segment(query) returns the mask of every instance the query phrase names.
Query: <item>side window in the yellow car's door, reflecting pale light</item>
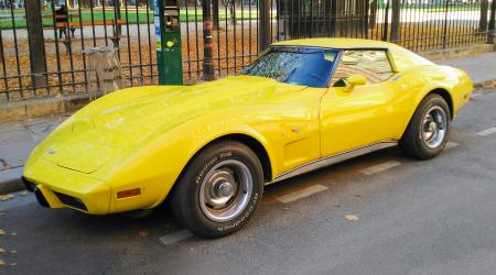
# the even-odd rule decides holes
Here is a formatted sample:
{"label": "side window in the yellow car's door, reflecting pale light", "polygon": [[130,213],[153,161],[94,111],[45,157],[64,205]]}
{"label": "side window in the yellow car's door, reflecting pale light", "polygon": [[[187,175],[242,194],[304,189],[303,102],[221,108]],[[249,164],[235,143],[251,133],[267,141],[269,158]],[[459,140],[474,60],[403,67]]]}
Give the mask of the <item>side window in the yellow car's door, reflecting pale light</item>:
{"label": "side window in the yellow car's door, reflecting pale light", "polygon": [[351,75],[362,75],[367,79],[367,84],[378,84],[391,77],[393,72],[386,51],[349,50],[344,51],[334,73],[332,86],[343,86],[342,79]]}

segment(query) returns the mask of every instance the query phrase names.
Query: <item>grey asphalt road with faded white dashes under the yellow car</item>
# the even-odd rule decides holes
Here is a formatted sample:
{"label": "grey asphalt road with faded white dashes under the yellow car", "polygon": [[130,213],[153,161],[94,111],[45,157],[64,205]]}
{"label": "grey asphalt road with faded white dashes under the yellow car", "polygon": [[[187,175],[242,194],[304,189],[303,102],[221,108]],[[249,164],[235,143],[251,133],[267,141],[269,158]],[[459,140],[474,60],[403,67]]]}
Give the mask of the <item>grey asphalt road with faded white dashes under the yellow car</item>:
{"label": "grey asphalt road with faded white dashes under the yellow car", "polygon": [[[389,148],[269,186],[248,226],[219,240],[190,237],[166,208],[91,217],[17,194],[0,201],[0,273],[495,274],[495,91],[461,111],[439,157]],[[317,193],[278,200],[298,190]]]}

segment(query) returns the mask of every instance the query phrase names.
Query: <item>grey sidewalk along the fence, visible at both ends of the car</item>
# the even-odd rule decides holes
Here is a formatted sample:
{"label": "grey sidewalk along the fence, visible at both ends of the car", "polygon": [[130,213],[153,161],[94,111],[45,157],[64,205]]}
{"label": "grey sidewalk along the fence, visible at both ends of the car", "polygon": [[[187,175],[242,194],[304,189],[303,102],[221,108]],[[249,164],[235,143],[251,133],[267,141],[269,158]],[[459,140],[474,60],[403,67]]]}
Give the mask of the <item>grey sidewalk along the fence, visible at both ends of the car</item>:
{"label": "grey sidewalk along the fence, visible at both ends of the car", "polygon": [[[477,87],[496,80],[496,52],[436,63],[465,70]],[[66,118],[58,116],[0,124],[0,194],[23,188],[20,177],[31,150]]]}

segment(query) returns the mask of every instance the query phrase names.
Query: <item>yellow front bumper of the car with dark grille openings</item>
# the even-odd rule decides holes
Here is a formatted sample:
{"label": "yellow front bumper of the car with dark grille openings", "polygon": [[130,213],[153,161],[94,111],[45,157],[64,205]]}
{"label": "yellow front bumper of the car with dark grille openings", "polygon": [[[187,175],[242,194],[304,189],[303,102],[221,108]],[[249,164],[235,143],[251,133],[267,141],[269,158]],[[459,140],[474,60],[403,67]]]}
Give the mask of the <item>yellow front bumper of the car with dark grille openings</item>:
{"label": "yellow front bumper of the car with dark grille openings", "polygon": [[84,173],[40,158],[25,168],[23,182],[44,207],[68,207],[93,215],[109,212],[110,187]]}

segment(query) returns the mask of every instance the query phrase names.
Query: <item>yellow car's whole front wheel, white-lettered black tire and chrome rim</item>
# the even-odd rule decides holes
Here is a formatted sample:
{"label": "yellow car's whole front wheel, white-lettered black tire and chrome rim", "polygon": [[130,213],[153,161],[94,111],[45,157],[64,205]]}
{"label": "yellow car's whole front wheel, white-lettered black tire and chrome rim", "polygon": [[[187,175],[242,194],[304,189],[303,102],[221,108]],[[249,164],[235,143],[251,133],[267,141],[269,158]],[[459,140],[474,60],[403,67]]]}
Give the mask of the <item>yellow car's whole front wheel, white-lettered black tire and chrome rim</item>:
{"label": "yellow car's whole front wheel, white-lettered black tire and chrome rim", "polygon": [[203,150],[186,167],[172,196],[172,211],[203,238],[239,230],[263,193],[263,170],[245,144],[224,141]]}

